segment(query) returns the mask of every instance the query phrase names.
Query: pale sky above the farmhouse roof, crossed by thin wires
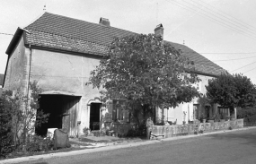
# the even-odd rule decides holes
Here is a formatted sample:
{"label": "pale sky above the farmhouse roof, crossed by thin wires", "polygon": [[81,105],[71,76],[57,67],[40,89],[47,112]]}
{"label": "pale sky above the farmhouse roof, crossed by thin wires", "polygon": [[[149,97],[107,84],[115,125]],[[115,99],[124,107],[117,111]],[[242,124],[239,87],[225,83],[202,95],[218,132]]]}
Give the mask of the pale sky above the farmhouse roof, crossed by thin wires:
{"label": "pale sky above the farmhouse roof, crossed by thin wires", "polygon": [[18,27],[44,11],[137,33],[154,33],[163,24],[163,39],[185,44],[229,73],[243,73],[256,84],[255,0],[1,0],[0,73],[5,51]]}

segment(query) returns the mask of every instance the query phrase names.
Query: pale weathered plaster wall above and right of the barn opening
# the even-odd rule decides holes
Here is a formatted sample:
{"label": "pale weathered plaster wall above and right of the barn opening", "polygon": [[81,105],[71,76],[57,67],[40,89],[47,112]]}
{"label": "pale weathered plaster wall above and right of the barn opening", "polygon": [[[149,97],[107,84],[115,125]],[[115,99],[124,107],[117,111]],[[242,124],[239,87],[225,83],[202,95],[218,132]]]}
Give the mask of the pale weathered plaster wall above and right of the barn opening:
{"label": "pale weathered plaster wall above and right of the barn opening", "polygon": [[82,96],[77,116],[81,121],[79,133],[83,132],[84,127],[89,127],[89,101],[100,97],[98,89],[85,84],[99,62],[95,58],[32,49],[31,82],[38,81],[45,92],[58,91]]}

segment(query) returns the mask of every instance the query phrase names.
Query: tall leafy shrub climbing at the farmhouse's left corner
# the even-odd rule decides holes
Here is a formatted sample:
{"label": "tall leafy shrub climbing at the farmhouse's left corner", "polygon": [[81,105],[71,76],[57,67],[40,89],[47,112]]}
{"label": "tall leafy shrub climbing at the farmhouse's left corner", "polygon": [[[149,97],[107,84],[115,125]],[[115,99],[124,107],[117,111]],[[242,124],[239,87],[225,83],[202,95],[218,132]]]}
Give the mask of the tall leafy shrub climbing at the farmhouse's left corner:
{"label": "tall leafy shrub climbing at the farmhouse's left corner", "polygon": [[19,91],[14,94],[13,108],[13,130],[15,140],[28,144],[28,136],[34,134],[35,127],[47,123],[49,114],[38,110],[41,89],[37,82],[30,82],[30,94],[24,95]]}

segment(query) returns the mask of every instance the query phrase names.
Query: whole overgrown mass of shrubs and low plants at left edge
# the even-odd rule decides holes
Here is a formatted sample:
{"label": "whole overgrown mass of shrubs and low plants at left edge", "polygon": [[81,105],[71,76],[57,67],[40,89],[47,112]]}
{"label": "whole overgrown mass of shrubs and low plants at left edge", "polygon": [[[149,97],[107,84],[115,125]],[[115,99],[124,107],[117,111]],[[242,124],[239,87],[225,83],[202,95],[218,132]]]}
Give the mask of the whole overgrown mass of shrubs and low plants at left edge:
{"label": "whole overgrown mass of shrubs and low plants at left edge", "polygon": [[4,91],[0,97],[0,158],[12,151],[48,151],[49,138],[31,135],[35,126],[48,121],[49,114],[37,111],[40,88],[30,82],[31,95]]}

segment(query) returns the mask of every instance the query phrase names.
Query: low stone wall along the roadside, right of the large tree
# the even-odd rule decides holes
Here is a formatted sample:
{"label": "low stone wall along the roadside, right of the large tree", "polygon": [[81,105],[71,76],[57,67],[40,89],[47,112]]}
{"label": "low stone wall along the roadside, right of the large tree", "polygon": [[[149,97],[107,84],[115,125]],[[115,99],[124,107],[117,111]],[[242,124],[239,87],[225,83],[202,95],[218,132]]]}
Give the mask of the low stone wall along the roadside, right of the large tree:
{"label": "low stone wall along the roadside, right of the large tree", "polygon": [[153,125],[153,138],[163,136],[164,138],[173,137],[184,134],[199,134],[199,132],[213,132],[228,129],[237,129],[243,127],[243,119],[236,119],[225,122],[215,123],[198,123],[188,125]]}

